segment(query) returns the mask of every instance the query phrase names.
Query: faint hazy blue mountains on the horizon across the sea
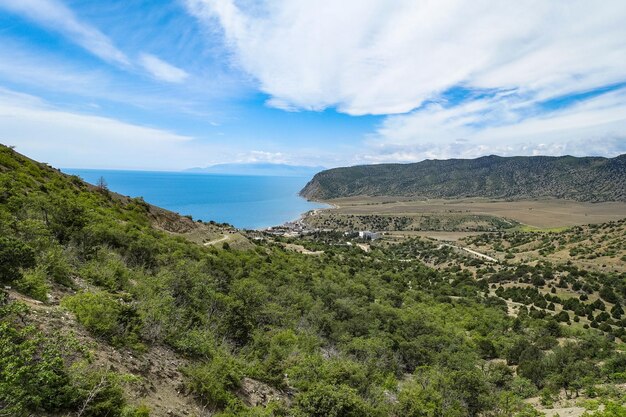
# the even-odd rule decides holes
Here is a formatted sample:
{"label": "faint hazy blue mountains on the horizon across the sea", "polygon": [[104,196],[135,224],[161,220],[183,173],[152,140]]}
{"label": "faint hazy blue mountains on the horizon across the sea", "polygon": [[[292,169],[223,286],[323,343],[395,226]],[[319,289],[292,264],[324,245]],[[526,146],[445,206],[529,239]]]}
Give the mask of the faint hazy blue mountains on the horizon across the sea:
{"label": "faint hazy blue mountains on the horizon across the sea", "polygon": [[206,168],[191,168],[187,172],[229,175],[268,175],[277,177],[311,177],[324,167],[311,167],[267,162],[217,164]]}

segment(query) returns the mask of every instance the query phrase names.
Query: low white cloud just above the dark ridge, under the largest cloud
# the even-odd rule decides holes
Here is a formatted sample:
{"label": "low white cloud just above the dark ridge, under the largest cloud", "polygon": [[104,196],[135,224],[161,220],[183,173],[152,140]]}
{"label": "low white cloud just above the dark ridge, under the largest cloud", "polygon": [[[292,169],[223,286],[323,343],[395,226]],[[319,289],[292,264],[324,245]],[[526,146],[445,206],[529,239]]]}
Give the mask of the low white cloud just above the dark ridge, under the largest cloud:
{"label": "low white cloud just above the dark ridge, under the largest cloud", "polygon": [[409,162],[487,154],[626,153],[626,89],[532,117],[525,115],[529,107],[532,103],[522,98],[504,95],[451,108],[431,104],[390,116],[369,138],[359,159]]}

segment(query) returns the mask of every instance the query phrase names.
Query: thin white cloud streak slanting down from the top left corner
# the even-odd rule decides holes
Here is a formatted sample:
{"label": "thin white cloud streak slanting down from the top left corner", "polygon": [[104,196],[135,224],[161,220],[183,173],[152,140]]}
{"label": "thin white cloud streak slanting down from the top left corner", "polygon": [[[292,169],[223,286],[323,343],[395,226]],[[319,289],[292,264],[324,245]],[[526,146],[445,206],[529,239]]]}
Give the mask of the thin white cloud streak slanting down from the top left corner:
{"label": "thin white cloud streak slanting down from the top left corner", "polygon": [[57,0],[0,0],[0,8],[60,32],[107,62],[129,65],[126,55],[106,35],[97,28],[81,22],[72,10]]}

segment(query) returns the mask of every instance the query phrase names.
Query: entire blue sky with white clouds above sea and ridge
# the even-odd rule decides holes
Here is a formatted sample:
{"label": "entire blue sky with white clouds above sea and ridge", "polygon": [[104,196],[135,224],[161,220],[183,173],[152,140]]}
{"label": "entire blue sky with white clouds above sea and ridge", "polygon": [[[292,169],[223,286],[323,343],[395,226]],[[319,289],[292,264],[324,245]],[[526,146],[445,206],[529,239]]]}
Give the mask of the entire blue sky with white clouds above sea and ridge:
{"label": "entire blue sky with white clouds above sea and ridge", "polygon": [[623,0],[0,0],[0,143],[66,168],[626,153]]}

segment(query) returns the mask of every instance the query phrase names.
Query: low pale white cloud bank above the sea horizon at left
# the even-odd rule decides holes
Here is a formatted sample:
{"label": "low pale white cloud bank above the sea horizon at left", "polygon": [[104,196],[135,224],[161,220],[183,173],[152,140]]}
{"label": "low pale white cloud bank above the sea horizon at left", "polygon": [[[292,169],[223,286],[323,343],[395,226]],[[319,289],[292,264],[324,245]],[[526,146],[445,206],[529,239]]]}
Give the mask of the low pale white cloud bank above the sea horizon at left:
{"label": "low pale white cloud bank above the sea horizon at left", "polygon": [[4,89],[0,138],[32,158],[73,168],[182,169],[219,152],[190,136],[68,112]]}

